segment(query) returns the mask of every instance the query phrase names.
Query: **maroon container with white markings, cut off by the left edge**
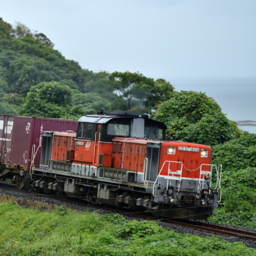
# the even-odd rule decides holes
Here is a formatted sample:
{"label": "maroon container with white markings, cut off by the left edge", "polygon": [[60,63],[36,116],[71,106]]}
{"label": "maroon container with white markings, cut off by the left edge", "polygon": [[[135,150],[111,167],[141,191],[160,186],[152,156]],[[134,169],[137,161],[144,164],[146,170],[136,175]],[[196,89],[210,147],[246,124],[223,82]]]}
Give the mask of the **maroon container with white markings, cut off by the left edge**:
{"label": "maroon container with white markings, cut off by the left edge", "polygon": [[10,167],[14,116],[0,115],[0,162]]}

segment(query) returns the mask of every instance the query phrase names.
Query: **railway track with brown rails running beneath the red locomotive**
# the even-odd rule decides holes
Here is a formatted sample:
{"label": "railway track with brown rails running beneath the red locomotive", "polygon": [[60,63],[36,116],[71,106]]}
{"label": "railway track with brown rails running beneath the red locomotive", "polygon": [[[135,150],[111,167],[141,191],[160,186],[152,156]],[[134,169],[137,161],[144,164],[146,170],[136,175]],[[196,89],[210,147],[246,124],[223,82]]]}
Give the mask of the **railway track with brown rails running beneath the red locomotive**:
{"label": "railway track with brown rails running beneath the red locomotive", "polygon": [[[83,201],[77,201],[74,199],[70,199],[68,197],[61,197],[61,196],[49,196],[49,195],[42,195],[38,193],[31,193],[27,190],[19,190],[13,185],[10,184],[3,184],[0,182],[0,188],[8,189],[8,190],[14,190],[14,191],[19,191],[19,193],[26,193],[26,194],[31,194],[33,196],[40,196],[40,197],[46,197],[46,198],[51,198],[54,200],[59,200],[62,201],[63,204],[65,203],[72,203],[72,204],[79,204],[83,205],[84,207],[93,207],[97,209],[104,209],[104,210],[109,210],[112,211],[113,213],[117,213],[120,215],[125,215],[128,217],[132,218],[139,218],[143,220],[154,220],[154,221],[159,221],[162,223],[168,223],[172,225],[178,225],[182,226],[184,228],[189,228],[201,232],[207,232],[211,234],[216,234],[218,236],[226,236],[226,237],[231,237],[231,238],[239,238],[241,240],[250,240],[256,242],[256,232],[255,231],[245,231],[241,230],[239,228],[234,228],[234,227],[227,227],[227,226],[220,226],[220,225],[215,225],[215,224],[210,224],[206,222],[199,222],[199,221],[193,221],[193,220],[184,220],[184,219],[178,219],[178,220],[168,220],[168,219],[159,219],[153,216],[148,216],[148,214],[136,214],[134,212],[128,212],[120,209],[115,209],[115,208],[106,208],[102,207],[100,205],[91,205],[88,204],[88,202],[83,202]],[[23,203],[29,204],[34,208],[49,208],[49,209],[56,209],[59,206],[54,205],[54,204],[49,204],[49,203],[44,203],[42,201],[36,202],[34,200],[27,200],[22,197],[10,197],[10,196],[5,196],[0,194],[0,200],[2,201],[21,201]]]}

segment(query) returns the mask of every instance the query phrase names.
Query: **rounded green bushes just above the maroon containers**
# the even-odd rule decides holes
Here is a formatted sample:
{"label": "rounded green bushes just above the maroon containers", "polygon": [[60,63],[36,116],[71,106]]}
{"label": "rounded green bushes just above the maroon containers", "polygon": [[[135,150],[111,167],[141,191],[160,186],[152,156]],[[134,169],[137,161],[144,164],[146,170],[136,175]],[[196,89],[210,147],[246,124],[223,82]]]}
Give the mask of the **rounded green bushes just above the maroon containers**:
{"label": "rounded green bushes just above the maroon containers", "polygon": [[42,82],[31,87],[19,114],[77,120],[81,116],[110,109],[110,103],[96,93],[83,94],[61,82]]}

